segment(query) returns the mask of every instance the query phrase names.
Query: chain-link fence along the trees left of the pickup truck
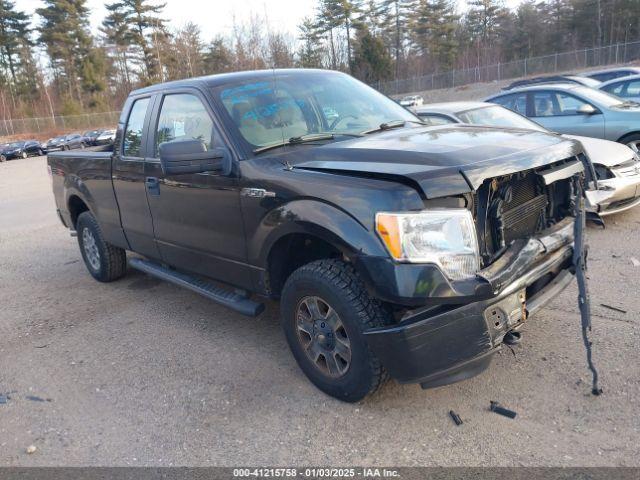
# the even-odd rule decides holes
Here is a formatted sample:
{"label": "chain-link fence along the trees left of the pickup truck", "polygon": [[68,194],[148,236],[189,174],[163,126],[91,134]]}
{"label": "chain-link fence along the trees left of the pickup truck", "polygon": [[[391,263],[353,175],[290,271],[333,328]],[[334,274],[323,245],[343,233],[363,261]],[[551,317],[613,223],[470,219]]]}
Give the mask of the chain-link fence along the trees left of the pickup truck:
{"label": "chain-link fence along the trees left of the pickup truck", "polygon": [[40,118],[0,119],[0,137],[20,134],[85,131],[94,128],[115,128],[120,112],[85,113]]}

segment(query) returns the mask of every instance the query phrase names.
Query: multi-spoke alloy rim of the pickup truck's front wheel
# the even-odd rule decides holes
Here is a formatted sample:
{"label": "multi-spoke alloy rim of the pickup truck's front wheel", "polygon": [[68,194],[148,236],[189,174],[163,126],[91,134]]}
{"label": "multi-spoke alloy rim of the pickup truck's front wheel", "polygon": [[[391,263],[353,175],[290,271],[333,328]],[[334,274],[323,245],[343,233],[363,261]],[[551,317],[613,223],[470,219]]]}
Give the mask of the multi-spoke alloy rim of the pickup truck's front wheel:
{"label": "multi-spoke alloy rim of the pickup truck's front wheel", "polygon": [[329,377],[347,373],[351,342],[338,313],[323,299],[304,297],[296,309],[298,340],[311,363]]}

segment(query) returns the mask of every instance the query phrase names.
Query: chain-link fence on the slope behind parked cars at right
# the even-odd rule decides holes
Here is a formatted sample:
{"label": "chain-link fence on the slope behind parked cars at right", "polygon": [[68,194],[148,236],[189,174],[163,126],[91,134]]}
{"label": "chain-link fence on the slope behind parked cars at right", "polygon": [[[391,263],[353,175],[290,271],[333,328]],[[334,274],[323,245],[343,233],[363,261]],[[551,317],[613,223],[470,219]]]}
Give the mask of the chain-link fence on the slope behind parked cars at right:
{"label": "chain-link fence on the slope behind parked cars at right", "polygon": [[420,77],[378,82],[372,85],[387,95],[453,88],[480,82],[508,80],[532,75],[571,72],[593,67],[640,60],[640,41],[616,43],[605,47],[561,52],[543,57],[531,57],[508,63],[451,70]]}

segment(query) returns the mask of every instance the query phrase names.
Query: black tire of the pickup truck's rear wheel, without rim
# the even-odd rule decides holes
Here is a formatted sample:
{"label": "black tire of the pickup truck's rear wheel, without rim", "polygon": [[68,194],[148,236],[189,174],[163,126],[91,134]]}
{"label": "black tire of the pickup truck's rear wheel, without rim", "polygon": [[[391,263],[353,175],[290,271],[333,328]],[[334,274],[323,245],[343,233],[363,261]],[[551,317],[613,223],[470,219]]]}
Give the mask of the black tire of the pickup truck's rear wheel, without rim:
{"label": "black tire of the pickup truck's rear wheel, without rim", "polygon": [[[93,278],[99,282],[113,282],[126,274],[126,251],[104,240],[100,225],[91,212],[80,214],[76,222],[76,231],[78,232],[78,245],[82,259]],[[92,246],[95,246],[95,249],[89,246],[88,241],[91,238],[93,238]],[[87,242],[86,245],[85,242]],[[96,250],[97,258],[91,253],[95,253]]]}

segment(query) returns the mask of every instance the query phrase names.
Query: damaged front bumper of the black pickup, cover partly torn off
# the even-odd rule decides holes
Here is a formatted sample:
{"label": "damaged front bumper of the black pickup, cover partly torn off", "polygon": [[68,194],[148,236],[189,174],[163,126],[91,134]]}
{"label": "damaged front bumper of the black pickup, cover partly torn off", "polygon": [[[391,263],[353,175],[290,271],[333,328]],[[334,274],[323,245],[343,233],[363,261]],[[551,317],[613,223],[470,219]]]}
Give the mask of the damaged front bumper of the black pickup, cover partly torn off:
{"label": "damaged front bumper of the black pickup, cover partly torn off", "polygon": [[[512,245],[478,274],[487,298],[458,297],[457,304],[428,305],[397,325],[365,332],[389,374],[424,388],[479,374],[500,349],[504,335],[573,280],[573,219],[523,244]],[[423,302],[424,303],[424,302]]]}

